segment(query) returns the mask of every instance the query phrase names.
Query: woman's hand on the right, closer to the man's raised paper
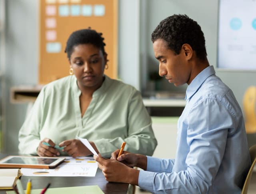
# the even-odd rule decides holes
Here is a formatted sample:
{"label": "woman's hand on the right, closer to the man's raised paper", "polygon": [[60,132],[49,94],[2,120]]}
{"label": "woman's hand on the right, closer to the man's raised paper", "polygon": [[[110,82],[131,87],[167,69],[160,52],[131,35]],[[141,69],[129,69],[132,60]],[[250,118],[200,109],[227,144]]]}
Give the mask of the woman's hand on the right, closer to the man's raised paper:
{"label": "woman's hand on the right, closer to the man's raised paper", "polygon": [[[93,142],[89,142],[94,150],[98,153],[98,150]],[[65,140],[59,144],[60,147],[64,147],[63,151],[67,152],[69,156],[73,158],[77,156],[89,156],[92,152],[86,148],[86,146],[77,139]]]}

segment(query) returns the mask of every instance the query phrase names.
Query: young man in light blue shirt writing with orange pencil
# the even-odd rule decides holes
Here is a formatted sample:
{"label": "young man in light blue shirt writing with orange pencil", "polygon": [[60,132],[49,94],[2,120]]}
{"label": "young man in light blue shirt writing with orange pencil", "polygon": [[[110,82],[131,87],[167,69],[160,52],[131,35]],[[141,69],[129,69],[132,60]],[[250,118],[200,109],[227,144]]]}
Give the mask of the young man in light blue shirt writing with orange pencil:
{"label": "young man in light blue shirt writing with orange pencil", "polygon": [[113,160],[94,156],[106,180],[154,193],[241,193],[250,168],[242,111],[208,63],[200,26],[186,15],[173,15],[160,22],[151,39],[159,75],[175,86],[188,84],[176,159],[129,152],[117,158],[119,150]]}

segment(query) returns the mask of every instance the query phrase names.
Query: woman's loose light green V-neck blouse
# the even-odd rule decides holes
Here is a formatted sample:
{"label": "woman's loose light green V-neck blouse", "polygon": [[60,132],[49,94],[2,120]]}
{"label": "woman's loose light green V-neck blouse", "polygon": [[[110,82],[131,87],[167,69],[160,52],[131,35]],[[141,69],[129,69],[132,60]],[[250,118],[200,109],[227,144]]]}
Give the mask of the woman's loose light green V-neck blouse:
{"label": "woman's loose light green V-neck blouse", "polygon": [[104,157],[124,141],[124,150],[152,156],[157,141],[140,92],[105,76],[82,117],[80,94],[75,76],[44,86],[20,129],[20,153],[36,154],[44,138],[59,144],[78,136],[93,141]]}

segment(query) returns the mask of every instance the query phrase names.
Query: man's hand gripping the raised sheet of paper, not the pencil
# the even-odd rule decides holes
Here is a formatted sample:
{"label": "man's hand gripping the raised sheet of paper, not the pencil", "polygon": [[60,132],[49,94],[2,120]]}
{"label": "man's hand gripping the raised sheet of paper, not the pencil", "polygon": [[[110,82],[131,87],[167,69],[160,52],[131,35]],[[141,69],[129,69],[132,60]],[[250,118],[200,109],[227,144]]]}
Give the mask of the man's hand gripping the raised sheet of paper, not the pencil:
{"label": "man's hand gripping the raised sheet of paper, not the pencil", "polygon": [[102,158],[100,154],[99,156],[94,155],[93,158],[98,162],[98,167],[107,181],[138,185],[139,170],[130,168],[117,160]]}

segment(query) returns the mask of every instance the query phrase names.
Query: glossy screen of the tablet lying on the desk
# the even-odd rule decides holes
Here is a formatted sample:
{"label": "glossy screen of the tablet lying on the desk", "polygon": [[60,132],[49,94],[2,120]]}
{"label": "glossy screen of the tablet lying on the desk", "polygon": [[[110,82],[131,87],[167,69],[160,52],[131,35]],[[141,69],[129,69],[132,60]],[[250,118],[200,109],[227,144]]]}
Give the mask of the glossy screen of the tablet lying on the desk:
{"label": "glossy screen of the tablet lying on the desk", "polygon": [[37,157],[12,157],[3,162],[3,164],[43,164],[50,165],[58,158],[37,158]]}

